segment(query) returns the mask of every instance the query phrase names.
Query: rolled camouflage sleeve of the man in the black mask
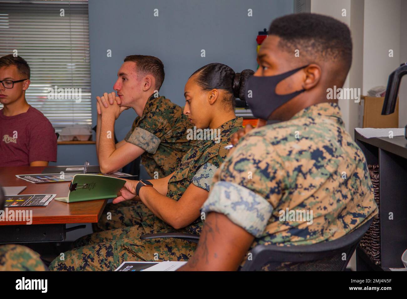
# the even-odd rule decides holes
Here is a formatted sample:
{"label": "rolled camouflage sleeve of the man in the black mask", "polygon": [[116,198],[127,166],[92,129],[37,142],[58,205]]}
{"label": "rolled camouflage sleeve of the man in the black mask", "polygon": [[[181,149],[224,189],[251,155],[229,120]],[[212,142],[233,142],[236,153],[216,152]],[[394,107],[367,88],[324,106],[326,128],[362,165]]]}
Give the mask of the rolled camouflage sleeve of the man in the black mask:
{"label": "rolled camouflage sleeve of the man in the black mask", "polygon": [[283,169],[282,160],[267,140],[245,136],[215,175],[201,212],[224,214],[249,234],[262,236],[281,199]]}

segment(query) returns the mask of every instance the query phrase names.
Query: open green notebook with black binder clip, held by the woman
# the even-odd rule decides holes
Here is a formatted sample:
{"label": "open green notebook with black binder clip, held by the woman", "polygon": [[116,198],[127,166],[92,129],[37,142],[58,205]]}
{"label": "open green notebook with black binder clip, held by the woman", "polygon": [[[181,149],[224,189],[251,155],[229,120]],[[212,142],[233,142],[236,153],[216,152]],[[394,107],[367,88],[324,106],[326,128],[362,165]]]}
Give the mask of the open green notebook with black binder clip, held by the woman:
{"label": "open green notebook with black binder clip, held by the woman", "polygon": [[78,174],[74,175],[69,185],[68,197],[58,197],[55,200],[76,203],[79,201],[116,198],[117,193],[125,183],[125,180],[116,177]]}

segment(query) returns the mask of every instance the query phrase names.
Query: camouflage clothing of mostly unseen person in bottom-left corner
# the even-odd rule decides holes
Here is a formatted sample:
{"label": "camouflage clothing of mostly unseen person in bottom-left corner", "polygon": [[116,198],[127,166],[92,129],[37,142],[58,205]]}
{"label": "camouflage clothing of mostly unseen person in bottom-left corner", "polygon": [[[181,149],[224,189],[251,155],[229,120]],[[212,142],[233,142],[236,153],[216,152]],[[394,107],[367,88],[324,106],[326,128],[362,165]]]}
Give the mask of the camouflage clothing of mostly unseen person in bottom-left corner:
{"label": "camouflage clothing of mostly unseen person in bottom-left corner", "polygon": [[0,271],[47,271],[39,254],[21,245],[0,246]]}

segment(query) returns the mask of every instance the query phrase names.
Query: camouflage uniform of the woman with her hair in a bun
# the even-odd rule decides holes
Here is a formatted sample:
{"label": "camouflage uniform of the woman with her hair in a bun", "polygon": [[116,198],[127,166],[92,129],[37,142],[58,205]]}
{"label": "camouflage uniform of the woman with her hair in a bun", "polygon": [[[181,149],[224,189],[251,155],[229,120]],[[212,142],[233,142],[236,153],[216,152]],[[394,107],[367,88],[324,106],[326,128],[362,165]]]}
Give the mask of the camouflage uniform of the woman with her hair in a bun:
{"label": "camouflage uniform of the woman with her hair in a bun", "polygon": [[[190,183],[209,191],[214,173],[228,154],[224,147],[229,144],[232,135],[242,128],[242,123],[242,118],[234,118],[222,124],[219,127],[221,130],[219,142],[198,140],[182,158],[179,167],[169,179],[166,196],[178,201]],[[64,261],[56,258],[50,269],[114,270],[126,260],[155,260],[154,253],[158,254],[156,255],[158,260],[184,261],[195,251],[196,244],[193,242],[174,238],[142,241],[140,236],[174,231],[200,234],[203,225],[201,218],[183,229],[176,230],[152,214],[141,202],[136,205],[123,204],[120,209],[124,212],[118,217],[118,221],[123,221],[119,224],[133,226],[100,231],[80,238],[74,246],[81,247],[66,252]],[[126,215],[130,218],[127,223]],[[107,220],[109,221],[112,220]]]}

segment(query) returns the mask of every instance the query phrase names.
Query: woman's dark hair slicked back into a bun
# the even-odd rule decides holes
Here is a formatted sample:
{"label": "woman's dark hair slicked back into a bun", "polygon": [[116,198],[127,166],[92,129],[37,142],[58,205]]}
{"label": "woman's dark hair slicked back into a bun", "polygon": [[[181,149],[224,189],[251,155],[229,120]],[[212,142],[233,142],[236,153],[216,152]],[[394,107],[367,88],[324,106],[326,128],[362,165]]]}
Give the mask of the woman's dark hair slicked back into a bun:
{"label": "woman's dark hair slicked back into a bun", "polygon": [[196,70],[191,76],[195,74],[197,74],[196,82],[202,90],[209,91],[214,88],[225,90],[230,95],[227,103],[234,109],[236,98],[245,100],[246,81],[254,71],[243,70],[235,73],[232,68],[223,63],[209,63]]}

